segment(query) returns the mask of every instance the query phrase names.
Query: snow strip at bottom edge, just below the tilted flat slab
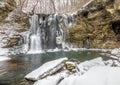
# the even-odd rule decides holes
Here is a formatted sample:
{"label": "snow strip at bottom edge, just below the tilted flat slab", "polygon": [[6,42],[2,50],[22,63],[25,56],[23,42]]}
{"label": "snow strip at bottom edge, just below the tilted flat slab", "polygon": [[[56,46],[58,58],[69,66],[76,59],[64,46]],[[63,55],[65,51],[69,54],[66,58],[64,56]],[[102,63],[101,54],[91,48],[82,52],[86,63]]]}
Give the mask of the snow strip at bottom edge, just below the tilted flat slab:
{"label": "snow strip at bottom edge, just below the tilted flat slab", "polygon": [[67,76],[68,74],[65,71],[63,71],[56,75],[48,76],[47,78],[38,80],[37,82],[34,83],[34,85],[58,85],[60,80],[62,80],[63,78]]}

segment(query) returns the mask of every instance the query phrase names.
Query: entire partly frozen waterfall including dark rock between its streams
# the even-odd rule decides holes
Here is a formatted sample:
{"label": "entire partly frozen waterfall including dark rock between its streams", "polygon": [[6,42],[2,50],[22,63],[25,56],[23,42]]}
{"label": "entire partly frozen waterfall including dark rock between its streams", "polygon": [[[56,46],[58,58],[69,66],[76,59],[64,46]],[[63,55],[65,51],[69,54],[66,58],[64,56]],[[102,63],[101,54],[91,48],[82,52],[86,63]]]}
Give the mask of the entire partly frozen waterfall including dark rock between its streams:
{"label": "entire partly frozen waterfall including dark rock between its streams", "polygon": [[62,49],[67,27],[72,17],[60,14],[38,14],[30,18],[29,52],[48,49]]}

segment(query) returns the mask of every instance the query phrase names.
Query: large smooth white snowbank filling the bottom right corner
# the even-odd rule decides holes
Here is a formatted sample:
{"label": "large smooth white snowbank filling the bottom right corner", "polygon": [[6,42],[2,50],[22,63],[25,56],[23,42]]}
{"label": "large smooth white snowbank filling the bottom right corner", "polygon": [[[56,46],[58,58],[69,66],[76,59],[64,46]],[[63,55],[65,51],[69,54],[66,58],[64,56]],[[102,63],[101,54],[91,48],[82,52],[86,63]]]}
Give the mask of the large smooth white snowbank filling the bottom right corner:
{"label": "large smooth white snowbank filling the bottom right corner", "polygon": [[120,68],[92,67],[82,76],[65,78],[59,85],[120,85]]}

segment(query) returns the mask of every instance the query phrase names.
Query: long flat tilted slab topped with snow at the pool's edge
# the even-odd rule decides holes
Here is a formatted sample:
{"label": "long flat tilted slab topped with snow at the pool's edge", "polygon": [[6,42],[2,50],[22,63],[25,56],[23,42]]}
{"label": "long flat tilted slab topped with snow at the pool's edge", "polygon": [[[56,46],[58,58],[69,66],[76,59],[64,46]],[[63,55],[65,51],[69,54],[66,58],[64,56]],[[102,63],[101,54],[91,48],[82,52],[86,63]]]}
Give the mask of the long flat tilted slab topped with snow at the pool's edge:
{"label": "long flat tilted slab topped with snow at the pool's edge", "polygon": [[43,64],[42,66],[40,66],[38,69],[26,75],[25,78],[29,80],[39,80],[41,78],[44,78],[49,74],[53,74],[59,69],[61,69],[64,65],[63,62],[66,60],[68,60],[68,58],[65,57],[54,61],[49,61]]}

